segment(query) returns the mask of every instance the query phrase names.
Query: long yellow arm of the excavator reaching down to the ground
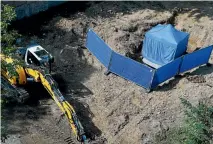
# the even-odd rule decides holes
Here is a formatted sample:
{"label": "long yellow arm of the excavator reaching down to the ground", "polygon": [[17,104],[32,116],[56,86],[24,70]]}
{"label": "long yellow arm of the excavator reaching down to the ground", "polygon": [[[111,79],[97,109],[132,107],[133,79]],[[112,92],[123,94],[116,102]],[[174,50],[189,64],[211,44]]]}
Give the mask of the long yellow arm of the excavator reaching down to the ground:
{"label": "long yellow arm of the excavator reaching down to the ground", "polygon": [[34,81],[41,82],[44,88],[48,91],[58,107],[67,117],[70,127],[72,128],[73,133],[76,135],[77,140],[84,144],[87,143],[84,128],[82,127],[74,108],[68,101],[65,100],[52,76],[50,74],[45,74],[45,72],[42,72],[42,70],[35,70],[32,68],[25,68],[25,71],[27,75],[34,79]]}

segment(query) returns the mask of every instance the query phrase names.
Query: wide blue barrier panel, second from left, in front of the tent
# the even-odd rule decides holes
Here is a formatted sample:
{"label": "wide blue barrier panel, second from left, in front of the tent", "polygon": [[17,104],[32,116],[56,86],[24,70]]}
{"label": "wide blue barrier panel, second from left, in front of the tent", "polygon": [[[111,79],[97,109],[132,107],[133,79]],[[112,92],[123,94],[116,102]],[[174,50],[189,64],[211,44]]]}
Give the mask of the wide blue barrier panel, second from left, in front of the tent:
{"label": "wide blue barrier panel, second from left, in front of the tent", "polygon": [[154,69],[116,52],[112,53],[109,70],[146,89],[151,87]]}

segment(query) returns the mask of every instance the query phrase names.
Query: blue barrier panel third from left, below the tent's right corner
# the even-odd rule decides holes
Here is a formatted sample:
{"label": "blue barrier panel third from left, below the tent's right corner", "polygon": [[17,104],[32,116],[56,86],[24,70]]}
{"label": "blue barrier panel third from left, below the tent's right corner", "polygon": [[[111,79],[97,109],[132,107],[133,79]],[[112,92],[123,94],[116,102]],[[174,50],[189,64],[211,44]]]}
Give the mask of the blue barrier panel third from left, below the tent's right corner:
{"label": "blue barrier panel third from left, below the tent's right corner", "polygon": [[182,61],[182,57],[177,58],[174,61],[156,69],[154,79],[152,81],[152,88],[155,88],[160,83],[178,74],[181,61]]}

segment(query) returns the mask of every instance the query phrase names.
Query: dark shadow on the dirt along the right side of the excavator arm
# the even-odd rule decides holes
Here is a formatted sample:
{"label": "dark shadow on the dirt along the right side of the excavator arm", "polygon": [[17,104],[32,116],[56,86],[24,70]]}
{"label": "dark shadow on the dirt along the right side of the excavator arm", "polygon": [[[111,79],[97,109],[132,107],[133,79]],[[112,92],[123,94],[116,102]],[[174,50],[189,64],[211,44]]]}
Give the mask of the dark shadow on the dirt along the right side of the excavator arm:
{"label": "dark shadow on the dirt along the right side of the excavator arm", "polygon": [[[62,75],[54,75],[53,77],[57,81],[58,87],[64,94],[64,97],[74,107],[87,136],[91,139],[101,136],[102,132],[92,122],[94,115],[90,110],[89,105],[78,100],[79,97],[84,98],[93,93],[81,82],[68,82]],[[74,95],[77,95],[77,97],[74,97]]]}

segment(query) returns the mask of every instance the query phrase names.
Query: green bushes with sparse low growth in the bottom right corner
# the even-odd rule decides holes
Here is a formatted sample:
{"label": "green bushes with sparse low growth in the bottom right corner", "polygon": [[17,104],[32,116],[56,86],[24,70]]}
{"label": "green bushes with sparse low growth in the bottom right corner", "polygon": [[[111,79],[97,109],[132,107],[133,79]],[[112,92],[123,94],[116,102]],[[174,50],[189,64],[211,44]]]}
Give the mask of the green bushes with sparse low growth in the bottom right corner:
{"label": "green bushes with sparse low growth in the bottom right corner", "polygon": [[171,144],[212,144],[213,143],[213,106],[200,102],[193,106],[181,98],[185,107],[185,121],[181,127],[175,127],[167,132],[167,137],[158,143]]}

